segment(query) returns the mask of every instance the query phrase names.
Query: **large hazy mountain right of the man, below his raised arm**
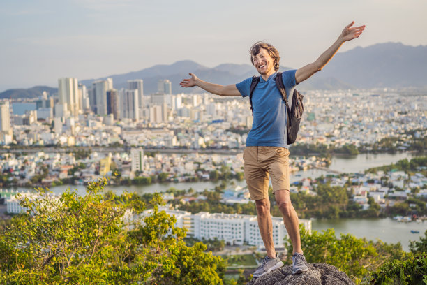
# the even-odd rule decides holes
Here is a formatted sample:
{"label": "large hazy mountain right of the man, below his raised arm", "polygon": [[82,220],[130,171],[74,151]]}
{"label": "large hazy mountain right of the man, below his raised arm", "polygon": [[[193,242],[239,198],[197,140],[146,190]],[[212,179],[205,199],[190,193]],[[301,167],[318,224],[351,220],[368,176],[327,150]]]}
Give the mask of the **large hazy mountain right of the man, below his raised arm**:
{"label": "large hazy mountain right of the man, below his raised arm", "polygon": [[336,54],[321,73],[361,88],[427,87],[427,45],[356,47]]}

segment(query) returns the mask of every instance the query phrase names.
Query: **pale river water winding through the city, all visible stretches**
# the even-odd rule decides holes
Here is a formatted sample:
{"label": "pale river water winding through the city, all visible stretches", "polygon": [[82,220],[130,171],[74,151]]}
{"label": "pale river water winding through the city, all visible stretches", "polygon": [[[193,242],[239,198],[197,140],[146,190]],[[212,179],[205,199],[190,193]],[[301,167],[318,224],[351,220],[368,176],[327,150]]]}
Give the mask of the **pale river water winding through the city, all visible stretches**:
{"label": "pale river water winding through the city, all visible stretches", "polygon": [[[359,173],[364,170],[376,167],[384,166],[390,163],[396,163],[400,159],[411,159],[416,156],[412,153],[398,153],[398,154],[359,154],[352,157],[340,157],[334,156],[331,160],[331,166],[329,169],[338,170],[345,173]],[[319,169],[310,169],[306,171],[299,171],[291,174],[291,183],[299,181],[304,177],[319,177],[320,175],[329,174],[328,171]],[[246,186],[246,182],[232,180],[235,184]],[[129,192],[142,193],[154,193],[164,192],[170,187],[176,189],[189,189],[192,187],[197,192],[202,192],[204,189],[213,189],[220,182],[181,182],[181,183],[165,183],[165,184],[151,184],[147,186],[108,186],[107,190],[112,190],[119,194],[127,190]],[[230,182],[229,182],[230,184]],[[62,193],[65,189],[71,187],[77,189],[78,193],[83,194],[84,186],[75,185],[61,185],[52,187],[51,190],[54,193]],[[19,191],[26,191],[28,189],[18,189]],[[383,242],[396,243],[400,242],[405,251],[409,250],[410,240],[419,240],[421,235],[424,235],[424,231],[427,229],[427,221],[423,223],[401,223],[394,221],[393,219],[329,219],[329,220],[317,220],[313,219],[313,230],[322,231],[327,228],[334,228],[336,235],[340,233],[351,233],[357,238],[366,238],[367,240],[380,239]],[[411,230],[417,230],[419,233],[411,233]]]}

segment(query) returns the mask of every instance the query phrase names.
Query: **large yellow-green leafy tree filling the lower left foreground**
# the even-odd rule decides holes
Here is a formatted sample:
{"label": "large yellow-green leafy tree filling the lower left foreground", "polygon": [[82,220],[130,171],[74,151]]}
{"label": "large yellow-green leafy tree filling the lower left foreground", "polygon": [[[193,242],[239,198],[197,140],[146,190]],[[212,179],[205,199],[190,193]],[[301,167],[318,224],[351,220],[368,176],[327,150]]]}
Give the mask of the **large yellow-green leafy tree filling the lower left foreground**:
{"label": "large yellow-green leafy tree filling the lower left foreground", "polygon": [[100,193],[91,182],[84,196],[66,191],[58,198],[39,189],[38,198],[20,197],[27,209],[0,236],[0,284],[222,284],[224,261],[187,247],[186,231],[158,210],[129,219],[146,207],[128,193]]}

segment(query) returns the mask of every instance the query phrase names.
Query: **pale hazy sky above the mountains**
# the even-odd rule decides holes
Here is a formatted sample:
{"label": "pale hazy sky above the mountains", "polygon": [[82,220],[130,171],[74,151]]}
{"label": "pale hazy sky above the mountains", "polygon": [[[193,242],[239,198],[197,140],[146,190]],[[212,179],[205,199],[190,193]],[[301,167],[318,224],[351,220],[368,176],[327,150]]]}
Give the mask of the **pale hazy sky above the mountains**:
{"label": "pale hazy sky above the mountains", "polygon": [[186,59],[207,67],[250,64],[256,41],[274,45],[281,65],[299,68],[315,61],[352,20],[366,30],[340,52],[385,42],[427,45],[425,0],[0,3],[0,92]]}

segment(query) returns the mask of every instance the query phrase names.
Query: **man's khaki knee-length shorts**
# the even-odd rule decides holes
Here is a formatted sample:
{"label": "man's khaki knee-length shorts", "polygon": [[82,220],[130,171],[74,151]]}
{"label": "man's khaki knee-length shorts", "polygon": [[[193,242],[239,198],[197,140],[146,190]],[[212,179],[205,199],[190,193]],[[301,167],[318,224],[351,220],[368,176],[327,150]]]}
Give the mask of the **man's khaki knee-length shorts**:
{"label": "man's khaki knee-length shorts", "polygon": [[244,174],[250,200],[269,198],[269,175],[273,193],[290,190],[289,154],[285,147],[245,147]]}

